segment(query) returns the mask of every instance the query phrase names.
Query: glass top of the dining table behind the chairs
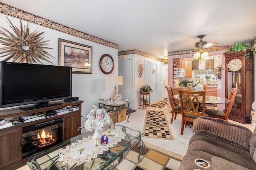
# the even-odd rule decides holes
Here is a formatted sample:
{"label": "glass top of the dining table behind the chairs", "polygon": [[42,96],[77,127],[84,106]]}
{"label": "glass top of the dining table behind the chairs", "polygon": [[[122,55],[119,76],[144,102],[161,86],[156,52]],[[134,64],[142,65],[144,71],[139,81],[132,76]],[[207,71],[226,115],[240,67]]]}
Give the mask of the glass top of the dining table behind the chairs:
{"label": "glass top of the dining table behind the chairs", "polygon": [[[172,98],[175,100],[180,100],[180,95],[172,95]],[[202,103],[202,98],[198,98],[199,103]],[[229,99],[216,97],[216,96],[205,96],[205,104],[225,104],[230,103]]]}

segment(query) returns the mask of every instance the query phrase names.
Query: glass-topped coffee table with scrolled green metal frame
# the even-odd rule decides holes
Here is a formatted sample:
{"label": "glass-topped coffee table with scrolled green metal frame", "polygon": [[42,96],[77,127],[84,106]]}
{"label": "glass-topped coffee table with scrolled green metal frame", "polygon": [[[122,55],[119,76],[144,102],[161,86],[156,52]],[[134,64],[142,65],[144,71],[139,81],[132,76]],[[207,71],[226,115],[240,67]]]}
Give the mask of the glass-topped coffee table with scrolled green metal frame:
{"label": "glass-topped coffee table with scrolled green metal frame", "polygon": [[[90,162],[80,161],[78,163],[76,162],[77,160],[74,160],[75,162],[72,162],[72,160],[68,160],[68,162],[60,160],[62,160],[63,157],[68,159],[63,156],[64,150],[69,149],[72,146],[76,147],[79,143],[83,143],[85,140],[87,140],[86,142],[92,140],[91,137],[93,132],[82,133],[48,150],[34,154],[30,160],[28,160],[27,164],[33,170],[112,170],[126,157],[133,147],[136,147],[139,151],[138,161],[141,162],[140,156],[145,147],[144,142],[141,140],[143,133],[121,125],[115,125],[113,132],[114,131],[120,131],[123,134],[122,139],[119,139],[119,141],[108,148],[108,150],[103,151],[102,154],[94,153],[95,158],[92,158]],[[107,134],[108,132],[106,135]],[[82,156],[80,154],[88,151],[90,147],[86,148],[80,149],[79,146],[79,150],[75,149],[74,152],[77,150],[77,153],[73,156]]]}

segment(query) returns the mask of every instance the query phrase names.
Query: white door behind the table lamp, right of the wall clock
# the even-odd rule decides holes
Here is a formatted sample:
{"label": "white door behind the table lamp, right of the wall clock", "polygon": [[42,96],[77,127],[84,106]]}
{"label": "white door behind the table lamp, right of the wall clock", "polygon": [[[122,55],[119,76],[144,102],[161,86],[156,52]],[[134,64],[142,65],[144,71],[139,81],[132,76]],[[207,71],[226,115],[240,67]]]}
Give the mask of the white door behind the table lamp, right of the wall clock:
{"label": "white door behind the table lamp, right of the wall clock", "polygon": [[118,86],[118,93],[122,94],[123,100],[128,99],[129,106],[134,109],[134,69],[133,59],[122,59],[118,61],[118,75],[123,76],[123,85]]}

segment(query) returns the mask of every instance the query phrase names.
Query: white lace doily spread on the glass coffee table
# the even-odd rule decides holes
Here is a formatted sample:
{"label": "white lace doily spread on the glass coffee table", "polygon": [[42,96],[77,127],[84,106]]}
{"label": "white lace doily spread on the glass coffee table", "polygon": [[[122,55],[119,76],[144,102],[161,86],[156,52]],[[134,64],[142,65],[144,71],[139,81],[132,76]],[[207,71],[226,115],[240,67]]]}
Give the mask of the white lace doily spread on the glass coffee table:
{"label": "white lace doily spread on the glass coffee table", "polygon": [[66,149],[61,150],[59,154],[59,162],[62,164],[68,163],[70,166],[74,164],[81,165],[84,162],[90,162],[92,158],[96,158],[98,154],[103,154],[104,151],[108,151],[108,148],[112,148],[113,145],[117,145],[126,136],[124,132],[116,129],[112,129],[110,133],[106,132],[108,136],[108,144],[95,146],[92,136],[78,140],[77,143],[66,146]]}

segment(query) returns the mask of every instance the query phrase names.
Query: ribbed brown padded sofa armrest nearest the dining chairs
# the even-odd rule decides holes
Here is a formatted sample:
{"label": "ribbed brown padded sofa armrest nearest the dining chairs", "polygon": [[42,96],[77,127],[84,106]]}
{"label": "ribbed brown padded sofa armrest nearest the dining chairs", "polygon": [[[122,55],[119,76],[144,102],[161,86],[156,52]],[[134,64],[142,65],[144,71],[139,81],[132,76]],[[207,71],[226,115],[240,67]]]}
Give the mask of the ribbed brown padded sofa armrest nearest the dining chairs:
{"label": "ribbed brown padded sofa armrest nearest the dining chairs", "polygon": [[249,141],[252,136],[252,131],[244,126],[236,125],[218,118],[198,117],[193,122],[192,130],[195,133],[206,135],[249,150]]}

